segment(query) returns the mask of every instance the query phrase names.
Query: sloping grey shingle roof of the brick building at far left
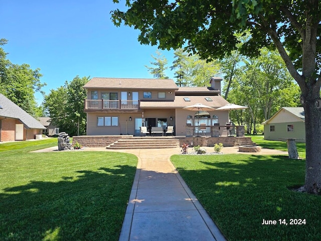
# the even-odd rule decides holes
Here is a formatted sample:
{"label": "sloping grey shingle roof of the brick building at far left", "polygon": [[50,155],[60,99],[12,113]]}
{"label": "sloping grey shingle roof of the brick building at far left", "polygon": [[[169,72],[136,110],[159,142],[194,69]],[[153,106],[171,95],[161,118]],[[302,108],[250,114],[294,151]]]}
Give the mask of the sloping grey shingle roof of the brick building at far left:
{"label": "sloping grey shingle roof of the brick building at far left", "polygon": [[19,119],[27,129],[46,129],[37,119],[3,94],[0,94],[0,105],[2,106],[0,108],[0,117]]}

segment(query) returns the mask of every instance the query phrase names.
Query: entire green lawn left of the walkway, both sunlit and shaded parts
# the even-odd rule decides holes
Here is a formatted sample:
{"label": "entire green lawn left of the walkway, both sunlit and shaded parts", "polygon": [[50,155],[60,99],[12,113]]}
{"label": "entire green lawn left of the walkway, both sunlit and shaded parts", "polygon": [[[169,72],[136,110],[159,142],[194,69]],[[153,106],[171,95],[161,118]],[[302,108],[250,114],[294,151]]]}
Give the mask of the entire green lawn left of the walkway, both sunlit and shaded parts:
{"label": "entire green lawn left of the walkway, both sunlit and shaded parts", "polygon": [[117,240],[137,157],[0,144],[0,240]]}

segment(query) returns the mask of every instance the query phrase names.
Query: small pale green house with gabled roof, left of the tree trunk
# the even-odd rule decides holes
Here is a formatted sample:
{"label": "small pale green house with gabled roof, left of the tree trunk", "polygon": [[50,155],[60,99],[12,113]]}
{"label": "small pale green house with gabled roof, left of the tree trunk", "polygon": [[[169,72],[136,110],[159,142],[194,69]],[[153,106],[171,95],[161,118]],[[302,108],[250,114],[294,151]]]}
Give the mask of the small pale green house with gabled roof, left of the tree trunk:
{"label": "small pale green house with gabled roof, left of the tree trunk", "polygon": [[294,138],[296,142],[305,142],[303,107],[282,107],[262,124],[265,140],[285,141],[284,138]]}

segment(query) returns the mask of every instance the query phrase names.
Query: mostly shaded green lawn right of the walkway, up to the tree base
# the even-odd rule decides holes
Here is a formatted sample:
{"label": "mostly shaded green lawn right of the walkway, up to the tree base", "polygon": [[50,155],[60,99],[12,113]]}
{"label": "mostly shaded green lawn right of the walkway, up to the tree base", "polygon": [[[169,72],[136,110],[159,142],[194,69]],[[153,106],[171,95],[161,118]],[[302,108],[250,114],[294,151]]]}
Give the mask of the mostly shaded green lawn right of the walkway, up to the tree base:
{"label": "mostly shaded green lawn right of the walkway, up to the tree base", "polygon": [[[237,154],[197,160],[195,170],[178,165],[179,173],[229,240],[319,238],[321,198],[288,189],[304,183],[304,160]],[[306,225],[262,225],[263,218],[305,218]]]}

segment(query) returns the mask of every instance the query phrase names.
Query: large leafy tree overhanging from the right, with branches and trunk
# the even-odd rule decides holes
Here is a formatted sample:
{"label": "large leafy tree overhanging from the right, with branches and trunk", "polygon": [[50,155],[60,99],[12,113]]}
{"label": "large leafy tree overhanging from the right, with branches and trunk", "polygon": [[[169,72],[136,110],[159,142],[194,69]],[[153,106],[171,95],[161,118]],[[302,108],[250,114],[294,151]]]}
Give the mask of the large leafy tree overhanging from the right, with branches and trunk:
{"label": "large leafy tree overhanging from the right, with branches and trunk", "polygon": [[[114,0],[118,3],[118,0]],[[262,47],[275,48],[302,91],[305,112],[306,175],[301,190],[320,194],[321,99],[320,20],[317,0],[136,0],[126,12],[112,11],[122,22],[140,30],[138,41],[161,49],[180,48],[203,58],[223,58],[236,49],[234,33],[250,30],[241,53],[255,56]]]}

